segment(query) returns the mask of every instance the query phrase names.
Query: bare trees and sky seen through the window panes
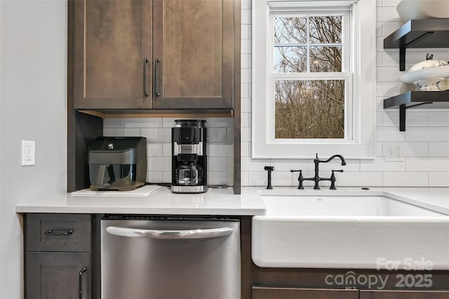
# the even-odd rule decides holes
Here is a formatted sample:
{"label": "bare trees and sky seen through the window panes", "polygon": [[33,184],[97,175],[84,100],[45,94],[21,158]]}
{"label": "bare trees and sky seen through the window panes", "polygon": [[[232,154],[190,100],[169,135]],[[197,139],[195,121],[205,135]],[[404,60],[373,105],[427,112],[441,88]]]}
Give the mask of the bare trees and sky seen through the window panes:
{"label": "bare trees and sky seen through the window panes", "polygon": [[[274,18],[274,72],[342,72],[342,16]],[[276,79],[275,138],[344,138],[343,79]]]}

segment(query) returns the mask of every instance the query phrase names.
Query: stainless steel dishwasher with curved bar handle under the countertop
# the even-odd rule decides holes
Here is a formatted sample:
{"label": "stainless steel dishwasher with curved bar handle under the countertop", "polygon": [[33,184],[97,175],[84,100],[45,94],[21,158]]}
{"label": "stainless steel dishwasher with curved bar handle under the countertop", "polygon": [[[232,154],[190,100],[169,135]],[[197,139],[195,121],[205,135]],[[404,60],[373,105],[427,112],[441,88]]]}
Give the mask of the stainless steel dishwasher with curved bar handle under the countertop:
{"label": "stainless steel dishwasher with curved bar handle under the countertop", "polygon": [[241,298],[239,220],[103,218],[101,298]]}

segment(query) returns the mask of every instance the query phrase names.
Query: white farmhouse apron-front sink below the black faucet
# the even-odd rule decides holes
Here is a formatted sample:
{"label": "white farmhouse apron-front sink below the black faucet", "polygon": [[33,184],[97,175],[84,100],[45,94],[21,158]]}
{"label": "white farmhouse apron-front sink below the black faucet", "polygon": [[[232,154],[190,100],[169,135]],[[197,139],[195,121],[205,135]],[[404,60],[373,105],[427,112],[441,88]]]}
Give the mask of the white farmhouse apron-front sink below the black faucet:
{"label": "white farmhouse apron-front sink below the black faucet", "polygon": [[257,266],[449,269],[448,215],[378,195],[320,192],[260,192],[267,213],[253,218]]}

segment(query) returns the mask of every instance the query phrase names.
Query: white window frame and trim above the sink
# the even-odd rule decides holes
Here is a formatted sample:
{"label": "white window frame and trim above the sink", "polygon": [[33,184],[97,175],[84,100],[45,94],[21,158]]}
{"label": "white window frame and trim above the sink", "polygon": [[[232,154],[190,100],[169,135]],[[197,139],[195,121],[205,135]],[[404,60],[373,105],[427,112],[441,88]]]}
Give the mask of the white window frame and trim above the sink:
{"label": "white window frame and trim above the sink", "polygon": [[[342,72],[274,74],[272,15],[301,11],[333,15],[347,11],[350,53]],[[309,159],[342,154],[347,159],[375,159],[375,0],[253,0],[252,147],[255,159]],[[344,24],[345,25],[345,24]],[[344,32],[343,32],[344,34]],[[348,37],[348,36],[347,36]],[[344,55],[344,54],[343,54]],[[349,69],[347,69],[349,67]],[[324,74],[324,75],[323,75]],[[345,138],[275,139],[275,79],[345,79]]]}

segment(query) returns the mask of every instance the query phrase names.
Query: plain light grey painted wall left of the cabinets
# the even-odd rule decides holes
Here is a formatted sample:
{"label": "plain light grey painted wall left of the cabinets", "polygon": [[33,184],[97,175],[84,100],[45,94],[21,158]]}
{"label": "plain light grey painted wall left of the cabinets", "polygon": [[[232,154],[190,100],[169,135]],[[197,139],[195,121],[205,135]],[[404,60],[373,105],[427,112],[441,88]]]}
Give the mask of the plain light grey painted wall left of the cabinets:
{"label": "plain light grey painted wall left of the cabinets", "polygon": [[[23,294],[15,205],[67,192],[67,1],[1,0],[1,299]],[[36,166],[20,166],[20,140]]]}

